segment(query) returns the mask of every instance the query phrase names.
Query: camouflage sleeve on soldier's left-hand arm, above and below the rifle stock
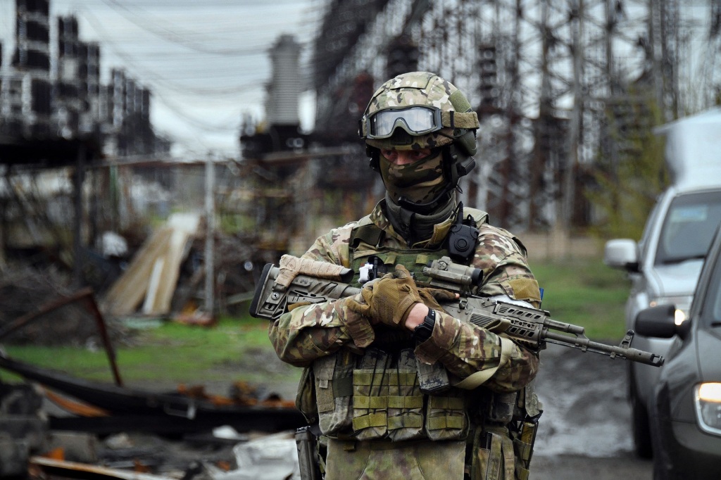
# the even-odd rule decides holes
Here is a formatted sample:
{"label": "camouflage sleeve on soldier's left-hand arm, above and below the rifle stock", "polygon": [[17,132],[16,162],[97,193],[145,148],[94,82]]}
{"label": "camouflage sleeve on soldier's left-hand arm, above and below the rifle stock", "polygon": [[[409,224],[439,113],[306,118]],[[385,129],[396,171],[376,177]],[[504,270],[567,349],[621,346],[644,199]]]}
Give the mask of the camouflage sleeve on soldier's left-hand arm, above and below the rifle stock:
{"label": "camouflage sleeve on soldier's left-hand arm, above and below the rifle stock", "polygon": [[[348,234],[342,227],[319,237],[303,257],[348,266]],[[345,255],[344,255],[345,252]],[[363,302],[360,294],[355,300]],[[298,306],[268,327],[268,338],[280,360],[296,366],[330,355],[341,347],[358,350],[373,342],[368,319],[350,311],[345,300]]]}

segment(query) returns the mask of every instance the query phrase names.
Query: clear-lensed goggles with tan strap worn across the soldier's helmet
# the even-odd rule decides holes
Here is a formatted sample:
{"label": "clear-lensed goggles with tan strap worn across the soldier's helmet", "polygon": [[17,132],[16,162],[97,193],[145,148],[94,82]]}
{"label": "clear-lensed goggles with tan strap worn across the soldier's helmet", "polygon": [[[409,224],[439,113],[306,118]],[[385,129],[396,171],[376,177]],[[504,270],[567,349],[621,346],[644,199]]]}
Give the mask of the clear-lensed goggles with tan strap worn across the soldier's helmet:
{"label": "clear-lensed goggles with tan strap worn across the soldier's helmet", "polygon": [[390,138],[396,128],[413,136],[426,135],[441,128],[477,128],[476,112],[441,111],[438,107],[415,105],[389,107],[361,118],[361,138]]}

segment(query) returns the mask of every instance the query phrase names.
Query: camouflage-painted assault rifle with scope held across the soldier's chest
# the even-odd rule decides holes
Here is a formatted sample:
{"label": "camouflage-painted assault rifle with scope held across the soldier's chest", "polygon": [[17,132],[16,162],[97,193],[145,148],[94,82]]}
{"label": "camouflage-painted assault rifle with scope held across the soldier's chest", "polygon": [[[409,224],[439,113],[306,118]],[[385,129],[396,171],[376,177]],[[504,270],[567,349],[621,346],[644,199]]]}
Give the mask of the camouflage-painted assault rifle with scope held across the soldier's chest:
{"label": "camouflage-painted assault rifle with scope held across the soldier's chest", "polygon": [[[283,257],[288,259],[289,256]],[[353,277],[353,271],[348,268],[309,259],[290,259],[293,262],[290,275],[287,275],[288,269],[281,273],[281,268],[273,264],[265,265],[250,305],[252,316],[274,321],[293,304],[322,303],[361,291],[348,285]],[[370,264],[366,267],[372,268]],[[423,274],[429,280],[426,283],[417,281],[419,286],[443,288],[459,294],[458,300],[442,304],[447,314],[491,332],[504,333],[534,352],[552,343],[655,367],[663,365],[661,355],[631,347],[633,330],[626,332],[620,345],[606,345],[588,339],[583,326],[551,319],[547,311],[472,295],[472,287],[480,284],[481,270],[455,264],[449,257],[430,262],[428,267],[423,267]],[[377,276],[377,272],[371,272],[368,277],[372,280],[374,276]]]}

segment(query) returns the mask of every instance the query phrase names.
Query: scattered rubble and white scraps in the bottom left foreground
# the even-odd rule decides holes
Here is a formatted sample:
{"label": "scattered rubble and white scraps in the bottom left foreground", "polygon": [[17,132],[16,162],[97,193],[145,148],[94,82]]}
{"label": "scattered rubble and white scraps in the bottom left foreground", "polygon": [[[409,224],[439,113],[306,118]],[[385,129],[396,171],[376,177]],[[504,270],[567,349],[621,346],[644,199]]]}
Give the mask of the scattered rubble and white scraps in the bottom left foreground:
{"label": "scattered rubble and white scraps in the bottom left foreground", "polygon": [[228,426],[182,437],[53,430],[40,389],[0,382],[0,478],[298,479],[291,431]]}

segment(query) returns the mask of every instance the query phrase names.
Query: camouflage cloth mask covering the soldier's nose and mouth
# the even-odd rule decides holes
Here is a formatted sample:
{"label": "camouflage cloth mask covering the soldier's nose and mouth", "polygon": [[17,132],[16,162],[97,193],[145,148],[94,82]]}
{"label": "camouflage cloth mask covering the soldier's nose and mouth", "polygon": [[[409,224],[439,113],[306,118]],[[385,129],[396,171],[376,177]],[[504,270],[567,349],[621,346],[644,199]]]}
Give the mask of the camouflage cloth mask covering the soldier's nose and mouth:
{"label": "camouflage cloth mask covering the soldier's nose and mouth", "polygon": [[382,155],[379,160],[383,183],[396,203],[400,197],[413,203],[427,203],[446,187],[441,152],[407,165],[392,164]]}

